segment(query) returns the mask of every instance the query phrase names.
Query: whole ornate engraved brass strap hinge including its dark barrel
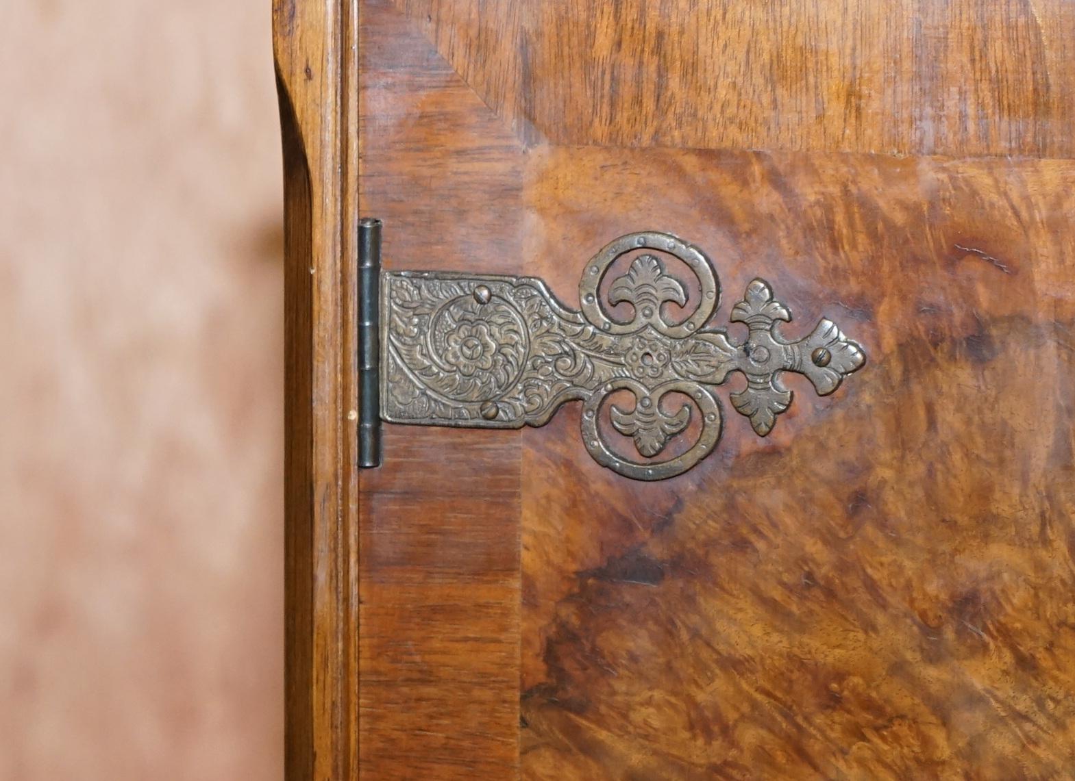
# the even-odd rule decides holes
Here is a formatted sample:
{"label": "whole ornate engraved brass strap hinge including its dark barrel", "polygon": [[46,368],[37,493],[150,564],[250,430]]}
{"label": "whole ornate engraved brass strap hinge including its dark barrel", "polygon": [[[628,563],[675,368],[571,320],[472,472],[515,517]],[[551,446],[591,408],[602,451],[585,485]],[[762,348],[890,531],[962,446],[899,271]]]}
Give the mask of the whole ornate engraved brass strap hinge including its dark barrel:
{"label": "whole ornate engraved brass strap hinge including its dark barrel", "polygon": [[[598,252],[583,271],[579,312],[536,277],[382,272],[381,222],[363,219],[359,230],[360,466],[379,464],[383,420],[518,429],[580,401],[590,455],[625,477],[660,480],[716,446],[723,415],[714,388],[733,372],[746,387],[730,394],[732,406],[765,436],[791,404],[783,372],[827,395],[865,363],[828,319],[799,341],[780,336],[791,313],[763,279],[732,307],[745,339],[708,328],[716,270],[670,233],[631,233]],[[670,273],[669,260],[694,280]]]}

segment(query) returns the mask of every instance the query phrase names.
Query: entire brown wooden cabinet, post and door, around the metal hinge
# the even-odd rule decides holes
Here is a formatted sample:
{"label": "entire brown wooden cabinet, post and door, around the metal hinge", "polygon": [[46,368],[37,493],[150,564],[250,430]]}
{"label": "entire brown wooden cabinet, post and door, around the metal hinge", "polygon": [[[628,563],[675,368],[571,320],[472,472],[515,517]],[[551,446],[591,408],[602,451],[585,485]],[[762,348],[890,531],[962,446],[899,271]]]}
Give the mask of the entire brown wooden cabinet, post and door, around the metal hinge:
{"label": "entire brown wooden cabinet, post and door, around the metal hinge", "polygon": [[[1073,777],[1075,5],[274,18],[289,779]],[[669,479],[594,460],[579,401],[543,426],[386,424],[359,471],[360,213],[386,272],[540,277],[573,310],[608,242],[673,234],[719,305],[687,284],[662,313],[716,306],[702,330],[741,358],[762,309],[788,343],[827,318],[865,363],[838,388],[816,347],[769,385],[732,372],[706,389],[719,440]],[[492,371],[469,336],[468,376]],[[662,345],[618,353],[624,377],[683,359]],[[689,395],[646,424],[669,452],[706,429]],[[645,462],[610,404],[602,436]]]}

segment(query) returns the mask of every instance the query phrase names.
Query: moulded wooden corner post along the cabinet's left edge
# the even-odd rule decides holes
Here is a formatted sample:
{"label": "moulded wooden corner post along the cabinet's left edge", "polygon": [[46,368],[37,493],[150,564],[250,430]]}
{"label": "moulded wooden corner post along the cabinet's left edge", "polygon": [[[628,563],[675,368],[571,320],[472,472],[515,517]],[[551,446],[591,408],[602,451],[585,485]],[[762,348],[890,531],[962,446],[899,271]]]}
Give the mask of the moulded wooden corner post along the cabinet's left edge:
{"label": "moulded wooden corner post along the cabinet's left edge", "polygon": [[357,0],[274,0],[285,221],[285,767],[355,779]]}

